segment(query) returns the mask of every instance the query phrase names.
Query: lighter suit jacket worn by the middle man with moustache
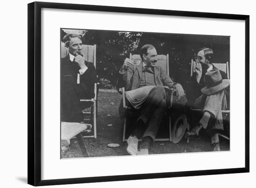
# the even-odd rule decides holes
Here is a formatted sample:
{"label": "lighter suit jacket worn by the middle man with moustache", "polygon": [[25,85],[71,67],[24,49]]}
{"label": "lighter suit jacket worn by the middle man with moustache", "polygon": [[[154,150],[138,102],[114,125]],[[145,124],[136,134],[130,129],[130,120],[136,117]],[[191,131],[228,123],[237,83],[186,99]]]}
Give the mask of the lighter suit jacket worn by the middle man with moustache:
{"label": "lighter suit jacket worn by the middle man with moustache", "polygon": [[[141,81],[141,74],[142,63],[140,63],[139,65],[134,65],[133,68],[128,68],[127,71],[122,74],[126,91],[137,89],[139,87]],[[172,88],[175,84],[175,82],[171,80],[169,75],[164,74],[164,70],[160,66],[154,67],[154,77],[155,84],[157,86],[168,86],[169,88]]]}

